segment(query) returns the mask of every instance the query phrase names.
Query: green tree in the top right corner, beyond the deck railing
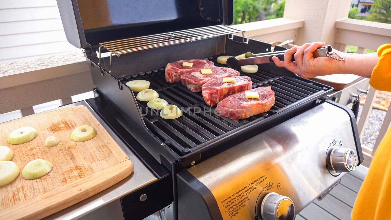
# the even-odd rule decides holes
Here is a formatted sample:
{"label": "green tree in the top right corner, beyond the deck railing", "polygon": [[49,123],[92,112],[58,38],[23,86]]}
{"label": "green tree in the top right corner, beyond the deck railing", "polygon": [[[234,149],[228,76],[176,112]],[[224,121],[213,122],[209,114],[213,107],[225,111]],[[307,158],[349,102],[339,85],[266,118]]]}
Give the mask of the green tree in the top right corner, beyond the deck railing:
{"label": "green tree in the top right corner, beyond the deck railing", "polygon": [[373,22],[391,23],[391,0],[375,0],[368,20]]}

